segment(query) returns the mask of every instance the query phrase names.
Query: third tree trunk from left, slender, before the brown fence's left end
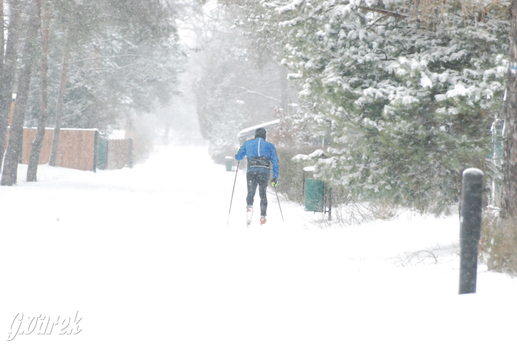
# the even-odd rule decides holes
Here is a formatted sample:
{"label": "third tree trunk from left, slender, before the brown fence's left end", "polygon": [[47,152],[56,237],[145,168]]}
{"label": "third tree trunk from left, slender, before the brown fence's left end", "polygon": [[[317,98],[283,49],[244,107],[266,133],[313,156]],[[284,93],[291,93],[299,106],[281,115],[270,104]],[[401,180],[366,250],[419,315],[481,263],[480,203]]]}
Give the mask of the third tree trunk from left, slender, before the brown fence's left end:
{"label": "third tree trunk from left, slender, before the brown fence's left end", "polygon": [[41,153],[41,146],[43,145],[43,138],[45,136],[45,121],[47,121],[48,108],[48,88],[47,75],[49,71],[49,12],[45,6],[43,9],[43,18],[41,19],[41,62],[40,62],[40,113],[38,116],[38,128],[36,130],[36,138],[31,147],[31,158],[27,167],[27,182],[35,182],[38,173],[39,155]]}

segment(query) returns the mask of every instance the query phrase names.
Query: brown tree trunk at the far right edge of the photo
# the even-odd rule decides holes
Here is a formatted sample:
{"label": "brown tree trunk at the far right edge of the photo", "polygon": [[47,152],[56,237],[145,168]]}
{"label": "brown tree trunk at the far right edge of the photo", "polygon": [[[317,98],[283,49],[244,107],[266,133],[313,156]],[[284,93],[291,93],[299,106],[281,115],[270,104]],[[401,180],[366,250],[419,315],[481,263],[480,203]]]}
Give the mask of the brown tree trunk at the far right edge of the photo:
{"label": "brown tree trunk at the far right edge of the photo", "polygon": [[501,187],[501,216],[517,217],[517,0],[510,4],[510,54],[503,134],[503,186]]}

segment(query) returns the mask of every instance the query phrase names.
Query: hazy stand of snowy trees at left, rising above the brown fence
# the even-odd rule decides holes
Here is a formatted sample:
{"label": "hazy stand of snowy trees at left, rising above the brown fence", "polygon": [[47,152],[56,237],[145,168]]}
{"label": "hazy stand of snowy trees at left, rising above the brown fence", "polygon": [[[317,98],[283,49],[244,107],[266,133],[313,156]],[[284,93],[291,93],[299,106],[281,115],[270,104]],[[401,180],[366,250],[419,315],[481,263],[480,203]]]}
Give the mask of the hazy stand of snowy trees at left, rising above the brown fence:
{"label": "hazy stand of snowy trees at left, rising above the brown fence", "polygon": [[[0,2],[2,185],[17,180],[24,124],[37,126],[27,180],[36,180],[45,126],[119,127],[177,94],[185,53],[175,20],[183,2],[5,0]],[[5,49],[4,49],[5,47]],[[9,109],[16,94],[9,143]]]}

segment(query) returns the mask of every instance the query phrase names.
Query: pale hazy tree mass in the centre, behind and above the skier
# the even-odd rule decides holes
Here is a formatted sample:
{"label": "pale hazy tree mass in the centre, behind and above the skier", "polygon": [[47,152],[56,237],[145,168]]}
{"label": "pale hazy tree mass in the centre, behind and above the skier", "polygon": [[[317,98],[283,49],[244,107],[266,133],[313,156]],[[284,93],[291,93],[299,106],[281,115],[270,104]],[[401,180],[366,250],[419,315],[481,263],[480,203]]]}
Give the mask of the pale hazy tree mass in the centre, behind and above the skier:
{"label": "pale hazy tree mass in the centre, behind and above the skier", "polygon": [[224,3],[195,18],[199,43],[191,54],[201,133],[211,157],[220,163],[235,155],[240,130],[292,113],[296,100],[287,70],[275,55],[278,45],[258,45],[252,33],[235,22],[246,12]]}

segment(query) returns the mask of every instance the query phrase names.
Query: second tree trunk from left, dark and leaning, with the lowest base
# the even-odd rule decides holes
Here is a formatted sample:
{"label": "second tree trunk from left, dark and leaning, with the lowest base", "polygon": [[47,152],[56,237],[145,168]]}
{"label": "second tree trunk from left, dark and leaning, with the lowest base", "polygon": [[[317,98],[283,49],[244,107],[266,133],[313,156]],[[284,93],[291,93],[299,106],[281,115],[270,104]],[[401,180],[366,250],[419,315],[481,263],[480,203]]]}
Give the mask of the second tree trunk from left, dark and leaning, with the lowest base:
{"label": "second tree trunk from left, dark and leaning, with the lowest base", "polygon": [[23,143],[23,120],[25,118],[25,109],[27,106],[27,98],[29,88],[31,87],[32,65],[34,63],[34,42],[39,28],[39,0],[33,3],[33,13],[29,19],[29,29],[27,39],[23,48],[24,67],[20,73],[18,81],[17,102],[14,107],[12,116],[11,129],[9,131],[9,143],[5,155],[5,166],[2,172],[2,180],[0,185],[14,185],[17,180],[18,161],[22,151]]}

